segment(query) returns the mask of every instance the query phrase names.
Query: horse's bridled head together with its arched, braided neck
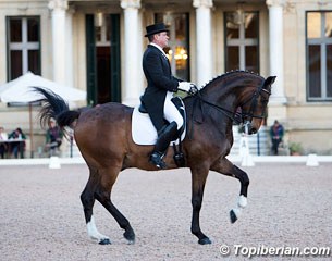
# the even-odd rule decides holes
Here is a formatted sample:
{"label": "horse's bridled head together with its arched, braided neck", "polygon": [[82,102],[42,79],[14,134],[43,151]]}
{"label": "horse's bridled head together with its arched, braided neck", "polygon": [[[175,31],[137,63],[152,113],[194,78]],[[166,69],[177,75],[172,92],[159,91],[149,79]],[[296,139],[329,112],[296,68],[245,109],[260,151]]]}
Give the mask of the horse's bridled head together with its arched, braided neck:
{"label": "horse's bridled head together with its arched, braided neck", "polygon": [[195,97],[226,115],[230,124],[236,121],[243,124],[246,134],[256,134],[266,116],[275,78],[265,79],[250,72],[233,71],[209,82]]}

